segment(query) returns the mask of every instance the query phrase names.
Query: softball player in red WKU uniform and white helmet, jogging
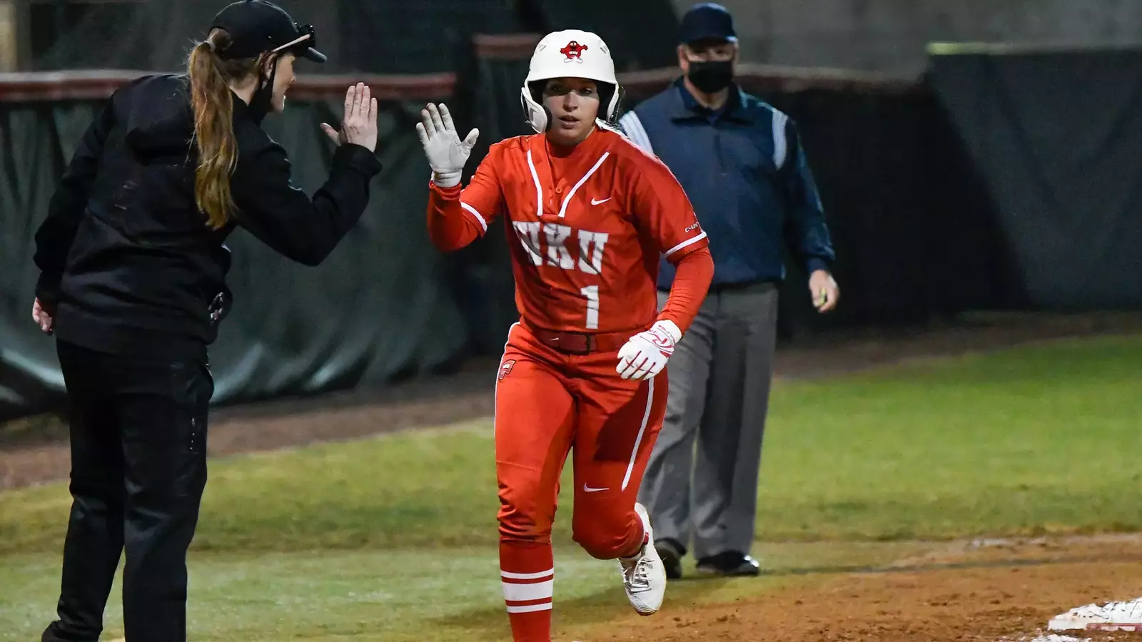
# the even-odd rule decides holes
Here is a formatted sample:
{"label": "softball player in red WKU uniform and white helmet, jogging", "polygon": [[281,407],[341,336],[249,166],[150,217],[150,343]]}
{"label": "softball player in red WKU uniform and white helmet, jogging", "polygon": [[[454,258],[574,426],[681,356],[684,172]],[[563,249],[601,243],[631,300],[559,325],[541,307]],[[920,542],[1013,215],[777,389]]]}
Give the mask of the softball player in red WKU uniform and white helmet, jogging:
{"label": "softball player in red WKU uniform and white helmet, jogging", "polygon": [[[521,91],[533,136],[492,145],[467,187],[476,142],[444,105],[417,130],[433,169],[428,232],[443,251],[502,216],[521,319],[496,390],[500,576],[515,642],[548,642],[558,480],[574,450],[574,540],[619,560],[632,605],[662,603],[666,573],[636,496],[666,407],[664,367],[706,296],[714,264],[682,186],[613,122],[606,45],[584,31],[544,38]],[[659,257],[677,266],[659,311]]]}

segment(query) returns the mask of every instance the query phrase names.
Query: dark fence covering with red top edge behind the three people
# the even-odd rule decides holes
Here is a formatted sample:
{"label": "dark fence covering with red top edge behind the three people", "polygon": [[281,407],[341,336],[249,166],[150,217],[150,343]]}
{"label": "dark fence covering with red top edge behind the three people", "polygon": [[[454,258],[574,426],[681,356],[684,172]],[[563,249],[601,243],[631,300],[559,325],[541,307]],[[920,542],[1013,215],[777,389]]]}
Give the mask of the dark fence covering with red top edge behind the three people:
{"label": "dark fence covering with red top edge behind the three people", "polygon": [[[563,26],[569,18],[555,7],[517,17]],[[352,10],[343,6],[338,19]],[[337,118],[357,79],[383,99],[385,169],[362,223],[320,267],[233,236],[236,305],[211,351],[216,403],[379,387],[499,353],[516,314],[502,227],[459,252],[436,252],[413,125],[425,102],[448,101],[460,127],[480,127],[471,174],[488,144],[529,133],[517,95],[537,40],[476,34],[451,42],[455,72],[295,86],[287,113],[267,128],[303,188],[321,184],[331,154],[317,123]],[[664,66],[671,46],[658,50],[667,54],[648,58],[658,69],[622,58],[624,69],[643,70],[621,78],[625,107],[674,80]],[[837,313],[811,311],[805,275],[790,264],[783,335],[923,324],[968,310],[1142,303],[1140,62],[1135,50],[934,56],[916,82],[745,66],[742,86],[801,126],[837,246]],[[53,342],[30,321],[32,235],[93,110],[134,75],[0,74],[0,419],[62,400]]]}

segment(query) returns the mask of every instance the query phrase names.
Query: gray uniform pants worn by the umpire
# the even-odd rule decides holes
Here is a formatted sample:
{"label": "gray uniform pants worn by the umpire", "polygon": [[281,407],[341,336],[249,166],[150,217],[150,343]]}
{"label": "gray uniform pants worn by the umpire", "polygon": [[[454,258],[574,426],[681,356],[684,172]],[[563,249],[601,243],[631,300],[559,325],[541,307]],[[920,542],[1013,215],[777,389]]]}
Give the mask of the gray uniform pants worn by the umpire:
{"label": "gray uniform pants worn by the umpire", "polygon": [[666,420],[638,500],[656,539],[693,537],[698,559],[754,541],[777,315],[774,284],[711,292],[667,363]]}

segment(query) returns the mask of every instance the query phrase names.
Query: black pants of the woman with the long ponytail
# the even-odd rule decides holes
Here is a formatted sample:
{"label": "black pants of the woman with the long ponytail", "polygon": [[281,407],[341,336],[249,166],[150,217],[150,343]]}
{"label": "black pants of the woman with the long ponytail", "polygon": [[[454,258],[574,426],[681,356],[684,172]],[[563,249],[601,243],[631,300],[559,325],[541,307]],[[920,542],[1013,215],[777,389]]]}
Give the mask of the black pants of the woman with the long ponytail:
{"label": "black pants of the woman with the long ponytail", "polygon": [[71,493],[45,641],[95,641],[126,549],[128,642],[186,640],[186,551],[207,481],[204,359],[154,361],[57,342],[71,412]]}

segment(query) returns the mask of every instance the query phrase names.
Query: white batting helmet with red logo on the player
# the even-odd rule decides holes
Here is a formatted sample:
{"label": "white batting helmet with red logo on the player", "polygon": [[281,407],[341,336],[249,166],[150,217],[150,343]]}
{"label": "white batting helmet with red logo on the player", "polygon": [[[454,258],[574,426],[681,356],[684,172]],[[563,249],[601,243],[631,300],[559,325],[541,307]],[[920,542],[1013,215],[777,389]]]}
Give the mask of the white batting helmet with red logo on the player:
{"label": "white batting helmet with red logo on the player", "polygon": [[552,125],[550,113],[544,106],[541,82],[552,78],[585,78],[600,83],[600,118],[613,120],[619,109],[619,81],[614,77],[611,50],[602,38],[589,31],[569,29],[548,33],[536,46],[520,98],[528,123],[539,134]]}

